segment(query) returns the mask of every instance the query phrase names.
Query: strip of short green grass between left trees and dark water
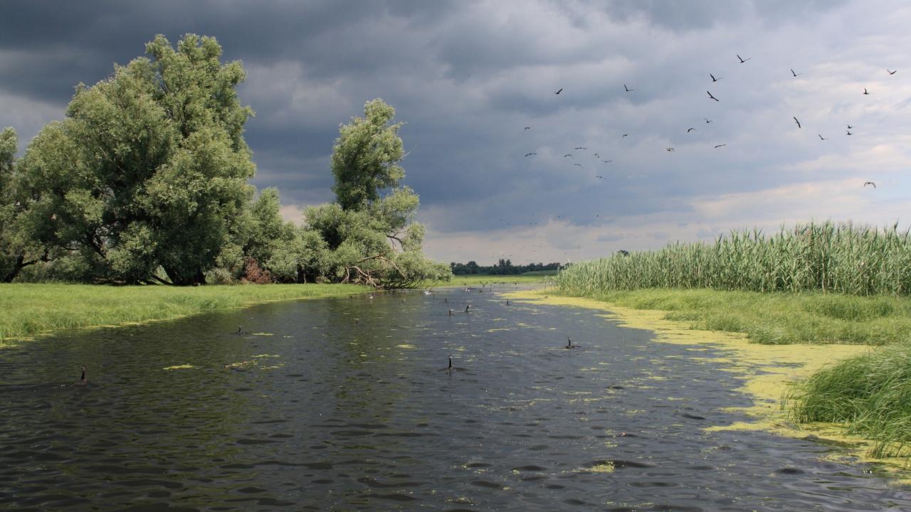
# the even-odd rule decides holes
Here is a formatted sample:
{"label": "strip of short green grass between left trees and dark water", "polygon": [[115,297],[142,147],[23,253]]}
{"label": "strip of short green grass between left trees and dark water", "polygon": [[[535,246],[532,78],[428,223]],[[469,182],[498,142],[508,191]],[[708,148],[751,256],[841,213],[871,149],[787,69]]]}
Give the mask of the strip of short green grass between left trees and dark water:
{"label": "strip of short green grass between left trees and dark water", "polygon": [[[21,287],[21,288],[20,288]],[[27,287],[27,288],[26,288]],[[32,315],[29,322],[20,323],[20,327],[10,328],[7,321],[13,315],[13,308],[17,300],[24,300],[28,293],[21,291],[35,292],[41,288],[57,290],[77,291],[82,293],[60,293],[49,292],[46,297],[42,297],[46,303],[35,306],[29,303],[24,306],[27,313]],[[330,288],[332,287],[332,288]],[[337,288],[336,288],[337,287]],[[20,293],[10,292],[19,288]],[[316,290],[314,292],[314,289]],[[325,291],[322,291],[322,290]],[[104,310],[97,312],[100,317],[105,318],[104,322],[92,322],[85,316],[85,303],[78,301],[89,300],[95,293],[86,291],[97,291],[97,307]],[[124,302],[135,301],[138,291],[154,291],[157,293],[168,292],[162,296],[148,296],[144,304],[130,302],[130,308],[121,309]],[[220,294],[220,291],[226,291]],[[289,292],[292,290],[292,292]],[[167,286],[131,286],[131,287],[112,287],[102,285],[87,284],[0,284],[0,291],[4,292],[0,297],[0,303],[5,307],[0,308],[0,324],[5,329],[0,330],[0,348],[11,346],[16,343],[27,342],[37,337],[50,336],[56,333],[64,332],[70,329],[104,329],[112,327],[125,327],[128,325],[139,325],[144,323],[167,322],[178,320],[196,314],[205,312],[217,312],[221,310],[240,309],[250,307],[256,304],[267,302],[282,301],[299,301],[304,299],[322,299],[328,297],[339,297],[344,295],[355,295],[367,292],[373,292],[374,288],[369,286],[359,286],[353,284],[239,284],[239,285],[210,285],[205,287],[192,288],[174,288]],[[215,291],[215,292],[213,292]],[[227,293],[229,292],[230,293]],[[330,292],[331,291],[331,292]],[[115,297],[117,307],[113,305],[111,297],[102,297],[102,293],[114,294],[122,293],[122,297]],[[138,292],[142,293],[142,292]],[[239,293],[241,296],[239,296]],[[249,297],[242,296],[243,293],[250,293]],[[194,297],[193,295],[204,295]],[[34,300],[34,297],[30,297]],[[192,302],[196,299],[196,302]],[[26,301],[27,302],[27,301]],[[50,325],[50,327],[47,327]],[[46,328],[43,328],[46,327]]]}

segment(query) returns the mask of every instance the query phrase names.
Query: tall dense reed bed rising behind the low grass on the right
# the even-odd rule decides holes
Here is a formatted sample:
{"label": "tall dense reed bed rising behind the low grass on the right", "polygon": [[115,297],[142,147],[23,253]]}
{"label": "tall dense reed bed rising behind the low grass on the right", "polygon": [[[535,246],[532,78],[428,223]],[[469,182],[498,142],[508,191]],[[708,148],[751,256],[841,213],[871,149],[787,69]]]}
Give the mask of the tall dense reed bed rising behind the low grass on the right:
{"label": "tall dense reed bed rising behind the low grass on the right", "polygon": [[732,231],[714,243],[673,243],[573,264],[556,277],[560,292],[590,296],[640,288],[911,294],[911,232],[831,221]]}

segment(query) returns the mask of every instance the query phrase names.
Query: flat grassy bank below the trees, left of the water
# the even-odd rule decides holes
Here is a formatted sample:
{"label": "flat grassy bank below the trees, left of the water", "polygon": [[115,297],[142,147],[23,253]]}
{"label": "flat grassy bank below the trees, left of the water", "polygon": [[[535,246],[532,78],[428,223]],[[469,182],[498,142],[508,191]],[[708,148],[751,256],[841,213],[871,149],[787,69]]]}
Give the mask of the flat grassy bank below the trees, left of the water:
{"label": "flat grassy bank below the trees, left of the water", "polygon": [[0,284],[0,343],[58,329],[169,320],[254,302],[366,292],[350,284],[95,286]]}

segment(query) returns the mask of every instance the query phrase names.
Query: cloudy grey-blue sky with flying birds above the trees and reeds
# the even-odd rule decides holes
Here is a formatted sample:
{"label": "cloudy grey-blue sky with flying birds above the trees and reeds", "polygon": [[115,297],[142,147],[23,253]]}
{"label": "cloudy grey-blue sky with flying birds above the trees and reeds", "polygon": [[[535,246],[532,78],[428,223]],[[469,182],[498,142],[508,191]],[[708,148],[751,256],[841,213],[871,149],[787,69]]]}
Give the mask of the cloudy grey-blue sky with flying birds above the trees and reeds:
{"label": "cloudy grey-blue sky with flying birds above the trees and reeds", "polygon": [[9,0],[0,19],[0,128],[20,153],[78,83],[154,36],[216,37],[247,71],[252,184],[277,187],[297,223],[334,199],[339,124],[383,98],[437,261],[582,261],[809,221],[909,227],[902,0]]}

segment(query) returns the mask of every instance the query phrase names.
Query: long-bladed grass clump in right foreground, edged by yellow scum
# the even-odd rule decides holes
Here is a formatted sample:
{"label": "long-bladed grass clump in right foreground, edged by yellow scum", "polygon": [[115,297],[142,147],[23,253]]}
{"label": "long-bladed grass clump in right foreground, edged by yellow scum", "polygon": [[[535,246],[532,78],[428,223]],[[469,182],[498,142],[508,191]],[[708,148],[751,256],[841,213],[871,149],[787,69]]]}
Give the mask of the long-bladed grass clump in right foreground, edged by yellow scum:
{"label": "long-bladed grass clump in right foreground, edged by yellow scum", "polygon": [[873,456],[911,454],[911,344],[835,364],[804,381],[791,398],[799,422],[843,424],[876,442]]}

